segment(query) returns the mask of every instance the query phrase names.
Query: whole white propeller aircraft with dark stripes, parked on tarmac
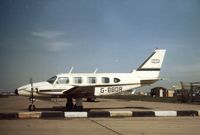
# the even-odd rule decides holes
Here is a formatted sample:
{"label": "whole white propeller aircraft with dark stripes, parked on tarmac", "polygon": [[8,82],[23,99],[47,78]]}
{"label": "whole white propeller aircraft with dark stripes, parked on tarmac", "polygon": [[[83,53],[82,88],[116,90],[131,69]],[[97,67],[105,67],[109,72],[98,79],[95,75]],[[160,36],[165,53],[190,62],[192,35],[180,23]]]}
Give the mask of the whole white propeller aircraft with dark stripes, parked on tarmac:
{"label": "whole white propeller aircraft with dark stripes, parked on tarmac", "polygon": [[[160,80],[159,73],[165,55],[164,49],[156,49],[142,65],[131,73],[66,73],[58,74],[47,81],[31,83],[15,90],[29,96],[34,111],[33,98],[67,98],[67,111],[83,109],[82,98],[112,95],[150,85]],[[73,99],[76,103],[73,104]]]}

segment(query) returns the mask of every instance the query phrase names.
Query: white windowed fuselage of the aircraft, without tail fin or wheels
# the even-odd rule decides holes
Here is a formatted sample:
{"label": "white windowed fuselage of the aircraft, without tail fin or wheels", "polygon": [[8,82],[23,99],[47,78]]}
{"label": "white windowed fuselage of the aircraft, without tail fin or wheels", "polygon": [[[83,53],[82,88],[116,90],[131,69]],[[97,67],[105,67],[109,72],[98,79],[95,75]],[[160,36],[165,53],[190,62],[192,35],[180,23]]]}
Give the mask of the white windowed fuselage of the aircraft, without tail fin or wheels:
{"label": "white windowed fuselage of the aircraft, without tail fin or wheels", "polygon": [[[70,95],[74,90],[83,97],[116,94],[141,86],[141,78],[131,73],[70,73],[58,74],[54,80],[33,83],[34,96]],[[144,78],[142,78],[144,79]],[[146,78],[148,80],[148,78]],[[69,91],[69,92],[68,92]],[[30,96],[31,85],[18,88],[19,95]],[[76,93],[76,92],[75,92]],[[89,93],[89,94],[84,94]]]}

